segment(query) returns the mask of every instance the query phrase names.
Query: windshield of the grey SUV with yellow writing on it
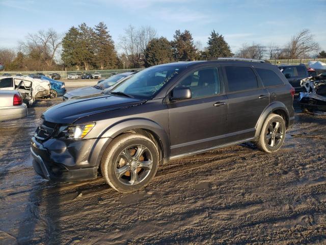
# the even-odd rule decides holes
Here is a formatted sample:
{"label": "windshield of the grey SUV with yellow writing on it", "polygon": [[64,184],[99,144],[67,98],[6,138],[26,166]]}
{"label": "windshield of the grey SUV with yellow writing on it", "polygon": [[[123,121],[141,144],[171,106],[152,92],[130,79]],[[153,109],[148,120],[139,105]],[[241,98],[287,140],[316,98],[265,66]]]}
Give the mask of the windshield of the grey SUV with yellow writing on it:
{"label": "windshield of the grey SUV with yellow writing on it", "polygon": [[181,71],[177,66],[150,67],[119,84],[111,93],[125,93],[150,99]]}

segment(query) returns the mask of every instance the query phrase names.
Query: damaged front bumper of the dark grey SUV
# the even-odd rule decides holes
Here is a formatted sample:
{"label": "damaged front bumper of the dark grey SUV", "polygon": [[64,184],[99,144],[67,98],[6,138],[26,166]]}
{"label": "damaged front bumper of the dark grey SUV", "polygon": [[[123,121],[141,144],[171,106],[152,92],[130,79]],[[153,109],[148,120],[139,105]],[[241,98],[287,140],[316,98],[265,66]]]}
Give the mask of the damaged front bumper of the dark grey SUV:
{"label": "damaged front bumper of the dark grey SUV", "polygon": [[95,179],[98,166],[88,159],[96,139],[66,142],[49,139],[40,143],[33,136],[31,153],[36,173],[45,179],[73,182]]}

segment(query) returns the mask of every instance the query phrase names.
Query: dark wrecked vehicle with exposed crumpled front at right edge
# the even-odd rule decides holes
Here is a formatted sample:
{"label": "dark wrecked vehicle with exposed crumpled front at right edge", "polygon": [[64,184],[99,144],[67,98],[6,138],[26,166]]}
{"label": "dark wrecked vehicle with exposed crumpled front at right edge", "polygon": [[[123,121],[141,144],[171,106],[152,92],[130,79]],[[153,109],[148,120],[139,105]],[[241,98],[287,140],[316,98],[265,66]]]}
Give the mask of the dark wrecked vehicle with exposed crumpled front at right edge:
{"label": "dark wrecked vehicle with exposed crumpled front at right edge", "polygon": [[298,102],[303,111],[326,111],[326,78],[309,77],[301,80],[306,92],[300,92]]}

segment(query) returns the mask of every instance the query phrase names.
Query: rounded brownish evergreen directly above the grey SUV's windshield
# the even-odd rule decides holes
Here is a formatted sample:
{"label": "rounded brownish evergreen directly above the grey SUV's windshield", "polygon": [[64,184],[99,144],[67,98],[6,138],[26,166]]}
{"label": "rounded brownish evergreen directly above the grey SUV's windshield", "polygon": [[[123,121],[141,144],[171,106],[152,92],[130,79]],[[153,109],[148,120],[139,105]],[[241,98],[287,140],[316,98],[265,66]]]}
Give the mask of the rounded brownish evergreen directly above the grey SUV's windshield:
{"label": "rounded brownish evergreen directly above the grey SUV's windshield", "polygon": [[152,39],[145,50],[145,66],[169,63],[173,60],[171,43],[165,37]]}

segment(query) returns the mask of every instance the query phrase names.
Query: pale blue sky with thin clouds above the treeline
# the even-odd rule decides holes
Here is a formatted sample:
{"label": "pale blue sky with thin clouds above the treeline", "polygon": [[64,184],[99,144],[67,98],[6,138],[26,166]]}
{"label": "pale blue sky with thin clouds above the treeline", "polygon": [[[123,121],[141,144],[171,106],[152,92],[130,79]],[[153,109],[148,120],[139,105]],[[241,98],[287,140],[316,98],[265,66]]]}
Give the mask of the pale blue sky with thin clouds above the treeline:
{"label": "pale blue sky with thin clouds above the treeline", "polygon": [[309,29],[326,50],[325,13],[326,0],[0,0],[0,47],[17,48],[39,30],[63,34],[82,22],[94,27],[103,21],[116,44],[129,24],[151,26],[169,40],[186,29],[202,47],[214,29],[232,52],[243,43],[282,47]]}

